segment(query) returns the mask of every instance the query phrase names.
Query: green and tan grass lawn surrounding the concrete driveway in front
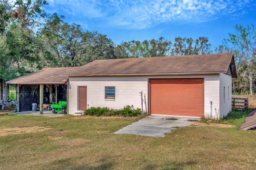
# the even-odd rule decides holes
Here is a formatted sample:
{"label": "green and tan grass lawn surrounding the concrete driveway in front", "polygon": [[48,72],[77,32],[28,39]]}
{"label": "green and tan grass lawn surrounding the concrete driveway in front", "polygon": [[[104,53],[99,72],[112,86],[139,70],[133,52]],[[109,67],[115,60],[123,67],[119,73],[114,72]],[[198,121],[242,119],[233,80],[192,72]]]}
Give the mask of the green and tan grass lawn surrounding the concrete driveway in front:
{"label": "green and tan grass lawn surrounding the concrete driveway in front", "polygon": [[256,169],[256,131],[195,123],[162,137],[113,134],[138,118],[0,116],[0,169]]}

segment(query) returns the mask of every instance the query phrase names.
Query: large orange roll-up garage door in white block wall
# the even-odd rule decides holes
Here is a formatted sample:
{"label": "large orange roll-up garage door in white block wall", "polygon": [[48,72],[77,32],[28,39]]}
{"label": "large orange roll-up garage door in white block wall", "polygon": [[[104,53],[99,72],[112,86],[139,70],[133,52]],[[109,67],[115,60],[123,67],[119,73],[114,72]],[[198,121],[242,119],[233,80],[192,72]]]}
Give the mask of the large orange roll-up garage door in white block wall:
{"label": "large orange roll-up garage door in white block wall", "polygon": [[204,79],[150,79],[149,83],[152,115],[204,115]]}

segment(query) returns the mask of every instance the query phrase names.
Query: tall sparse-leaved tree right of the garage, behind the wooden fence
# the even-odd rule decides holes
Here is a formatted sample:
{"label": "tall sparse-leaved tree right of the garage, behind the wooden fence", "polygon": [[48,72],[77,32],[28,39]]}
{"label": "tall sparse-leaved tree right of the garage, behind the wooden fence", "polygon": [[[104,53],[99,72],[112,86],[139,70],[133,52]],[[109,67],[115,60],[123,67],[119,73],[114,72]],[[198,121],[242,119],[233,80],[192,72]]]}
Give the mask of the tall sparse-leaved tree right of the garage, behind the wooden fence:
{"label": "tall sparse-leaved tree right of the garage, behind the wooden fence", "polygon": [[243,27],[241,25],[235,26],[236,33],[229,33],[229,42],[235,45],[236,49],[239,51],[238,60],[243,63],[246,72],[244,75],[248,77],[250,85],[250,95],[253,94],[253,81],[255,81],[254,76],[254,63],[256,61],[256,32],[254,25]]}

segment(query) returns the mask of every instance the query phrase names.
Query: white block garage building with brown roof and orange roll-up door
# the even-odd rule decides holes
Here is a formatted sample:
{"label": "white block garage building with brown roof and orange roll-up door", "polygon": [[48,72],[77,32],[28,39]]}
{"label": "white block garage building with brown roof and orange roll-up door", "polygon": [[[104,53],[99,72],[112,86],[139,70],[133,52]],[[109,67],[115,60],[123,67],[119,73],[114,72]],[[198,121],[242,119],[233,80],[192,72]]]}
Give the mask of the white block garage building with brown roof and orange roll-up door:
{"label": "white block garage building with brown roof and orange roll-up door", "polygon": [[142,93],[151,115],[217,118],[231,111],[236,67],[233,53],[221,53],[96,60],[55,76],[65,78],[70,115],[90,107],[141,108]]}

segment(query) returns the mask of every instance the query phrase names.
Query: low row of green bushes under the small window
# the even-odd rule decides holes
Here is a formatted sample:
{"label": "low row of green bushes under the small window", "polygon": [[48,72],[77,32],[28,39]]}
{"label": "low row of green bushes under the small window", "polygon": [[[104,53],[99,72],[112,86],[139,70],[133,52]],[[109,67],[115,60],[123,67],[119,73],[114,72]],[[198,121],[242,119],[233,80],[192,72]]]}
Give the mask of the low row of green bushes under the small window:
{"label": "low row of green bushes under the small window", "polygon": [[84,111],[84,115],[90,116],[124,116],[137,117],[142,115],[141,109],[134,109],[133,105],[126,105],[123,109],[109,109],[107,107],[91,107]]}

